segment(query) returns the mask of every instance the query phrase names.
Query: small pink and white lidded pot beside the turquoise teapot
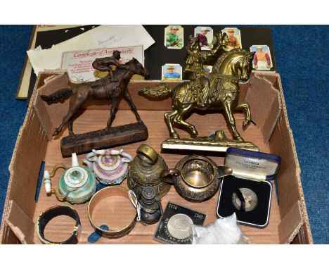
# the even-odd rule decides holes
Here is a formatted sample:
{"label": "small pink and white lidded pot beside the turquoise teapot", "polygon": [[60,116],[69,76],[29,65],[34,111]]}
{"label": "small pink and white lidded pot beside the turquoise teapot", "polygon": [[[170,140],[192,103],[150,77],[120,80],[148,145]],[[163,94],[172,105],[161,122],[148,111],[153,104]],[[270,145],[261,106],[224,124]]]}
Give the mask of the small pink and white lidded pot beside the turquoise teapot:
{"label": "small pink and white lidded pot beside the turquoise teapot", "polygon": [[84,163],[96,178],[105,185],[121,184],[128,173],[128,163],[132,157],[122,149],[101,149],[87,154]]}

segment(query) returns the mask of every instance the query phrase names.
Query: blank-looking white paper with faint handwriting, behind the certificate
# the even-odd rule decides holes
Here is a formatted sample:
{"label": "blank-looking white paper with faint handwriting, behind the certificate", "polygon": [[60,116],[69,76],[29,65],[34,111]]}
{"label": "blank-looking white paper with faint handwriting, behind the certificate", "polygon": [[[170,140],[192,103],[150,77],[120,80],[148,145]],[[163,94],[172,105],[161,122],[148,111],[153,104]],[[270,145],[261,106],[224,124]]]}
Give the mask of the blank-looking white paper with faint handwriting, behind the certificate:
{"label": "blank-looking white paper with faint handwriting, behind the certificate", "polygon": [[144,49],[148,49],[154,43],[154,39],[142,25],[101,25],[54,45],[51,49],[27,51],[27,55],[30,58],[34,73],[38,75],[43,70],[60,68],[62,55],[66,51],[137,45],[143,45]]}

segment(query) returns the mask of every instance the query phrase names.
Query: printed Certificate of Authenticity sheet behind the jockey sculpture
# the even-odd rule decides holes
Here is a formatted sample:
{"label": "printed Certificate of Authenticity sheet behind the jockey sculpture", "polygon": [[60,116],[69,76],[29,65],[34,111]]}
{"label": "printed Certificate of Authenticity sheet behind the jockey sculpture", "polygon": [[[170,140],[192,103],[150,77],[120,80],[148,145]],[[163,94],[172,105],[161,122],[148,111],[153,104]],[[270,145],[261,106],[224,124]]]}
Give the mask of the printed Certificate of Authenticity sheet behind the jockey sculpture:
{"label": "printed Certificate of Authenticity sheet behind the jockey sculpture", "polygon": [[143,46],[122,46],[104,49],[89,49],[86,51],[67,51],[63,53],[60,69],[67,70],[72,82],[89,82],[98,80],[95,77],[95,69],[92,63],[96,58],[112,56],[113,51],[118,50],[121,54],[121,63],[127,63],[133,57],[144,65]]}

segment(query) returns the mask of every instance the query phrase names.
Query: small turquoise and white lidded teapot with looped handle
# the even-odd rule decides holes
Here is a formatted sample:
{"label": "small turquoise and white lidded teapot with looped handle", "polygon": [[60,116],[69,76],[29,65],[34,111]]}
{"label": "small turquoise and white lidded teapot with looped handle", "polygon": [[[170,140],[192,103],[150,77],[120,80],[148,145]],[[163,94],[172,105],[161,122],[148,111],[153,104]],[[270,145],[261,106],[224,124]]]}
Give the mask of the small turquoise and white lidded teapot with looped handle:
{"label": "small turquoise and white lidded teapot with looped handle", "polygon": [[[64,168],[65,171],[58,180],[58,194],[51,189],[51,177],[53,177],[58,168]],[[79,166],[77,154],[72,154],[72,167],[63,163],[57,163],[51,173],[44,171],[44,187],[47,194],[55,194],[59,201],[68,201],[70,204],[83,204],[91,199],[96,192],[96,179],[92,171],[84,166]]]}

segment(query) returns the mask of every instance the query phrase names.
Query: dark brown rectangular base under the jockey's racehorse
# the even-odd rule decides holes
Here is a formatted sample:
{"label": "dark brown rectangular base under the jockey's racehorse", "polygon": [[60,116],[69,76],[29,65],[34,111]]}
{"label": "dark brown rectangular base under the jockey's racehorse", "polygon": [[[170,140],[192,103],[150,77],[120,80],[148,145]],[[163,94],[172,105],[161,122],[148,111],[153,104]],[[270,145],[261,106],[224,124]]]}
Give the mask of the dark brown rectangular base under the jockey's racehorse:
{"label": "dark brown rectangular base under the jockey's racehorse", "polygon": [[108,149],[113,146],[131,144],[148,139],[148,129],[143,123],[131,123],[111,127],[110,130],[98,130],[64,137],[60,141],[63,157],[72,153],[83,154],[93,149]]}

